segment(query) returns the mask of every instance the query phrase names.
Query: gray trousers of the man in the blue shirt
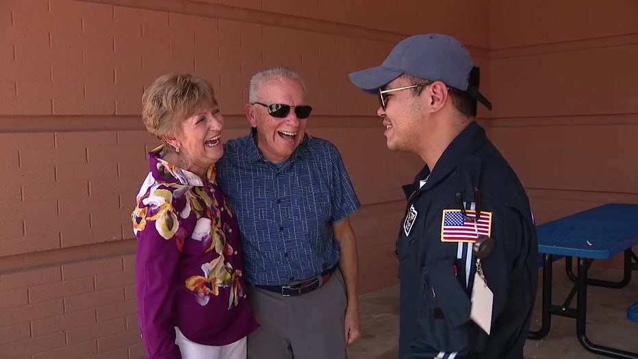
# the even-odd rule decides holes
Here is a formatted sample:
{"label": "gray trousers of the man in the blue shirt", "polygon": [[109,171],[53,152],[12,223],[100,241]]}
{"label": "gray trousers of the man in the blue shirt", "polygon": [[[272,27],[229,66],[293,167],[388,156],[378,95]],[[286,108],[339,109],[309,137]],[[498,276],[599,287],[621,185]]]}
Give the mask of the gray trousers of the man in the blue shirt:
{"label": "gray trousers of the man in the blue shirt", "polygon": [[345,288],[339,269],[320,288],[296,297],[248,286],[248,299],[261,324],[248,336],[248,358],[347,358]]}

